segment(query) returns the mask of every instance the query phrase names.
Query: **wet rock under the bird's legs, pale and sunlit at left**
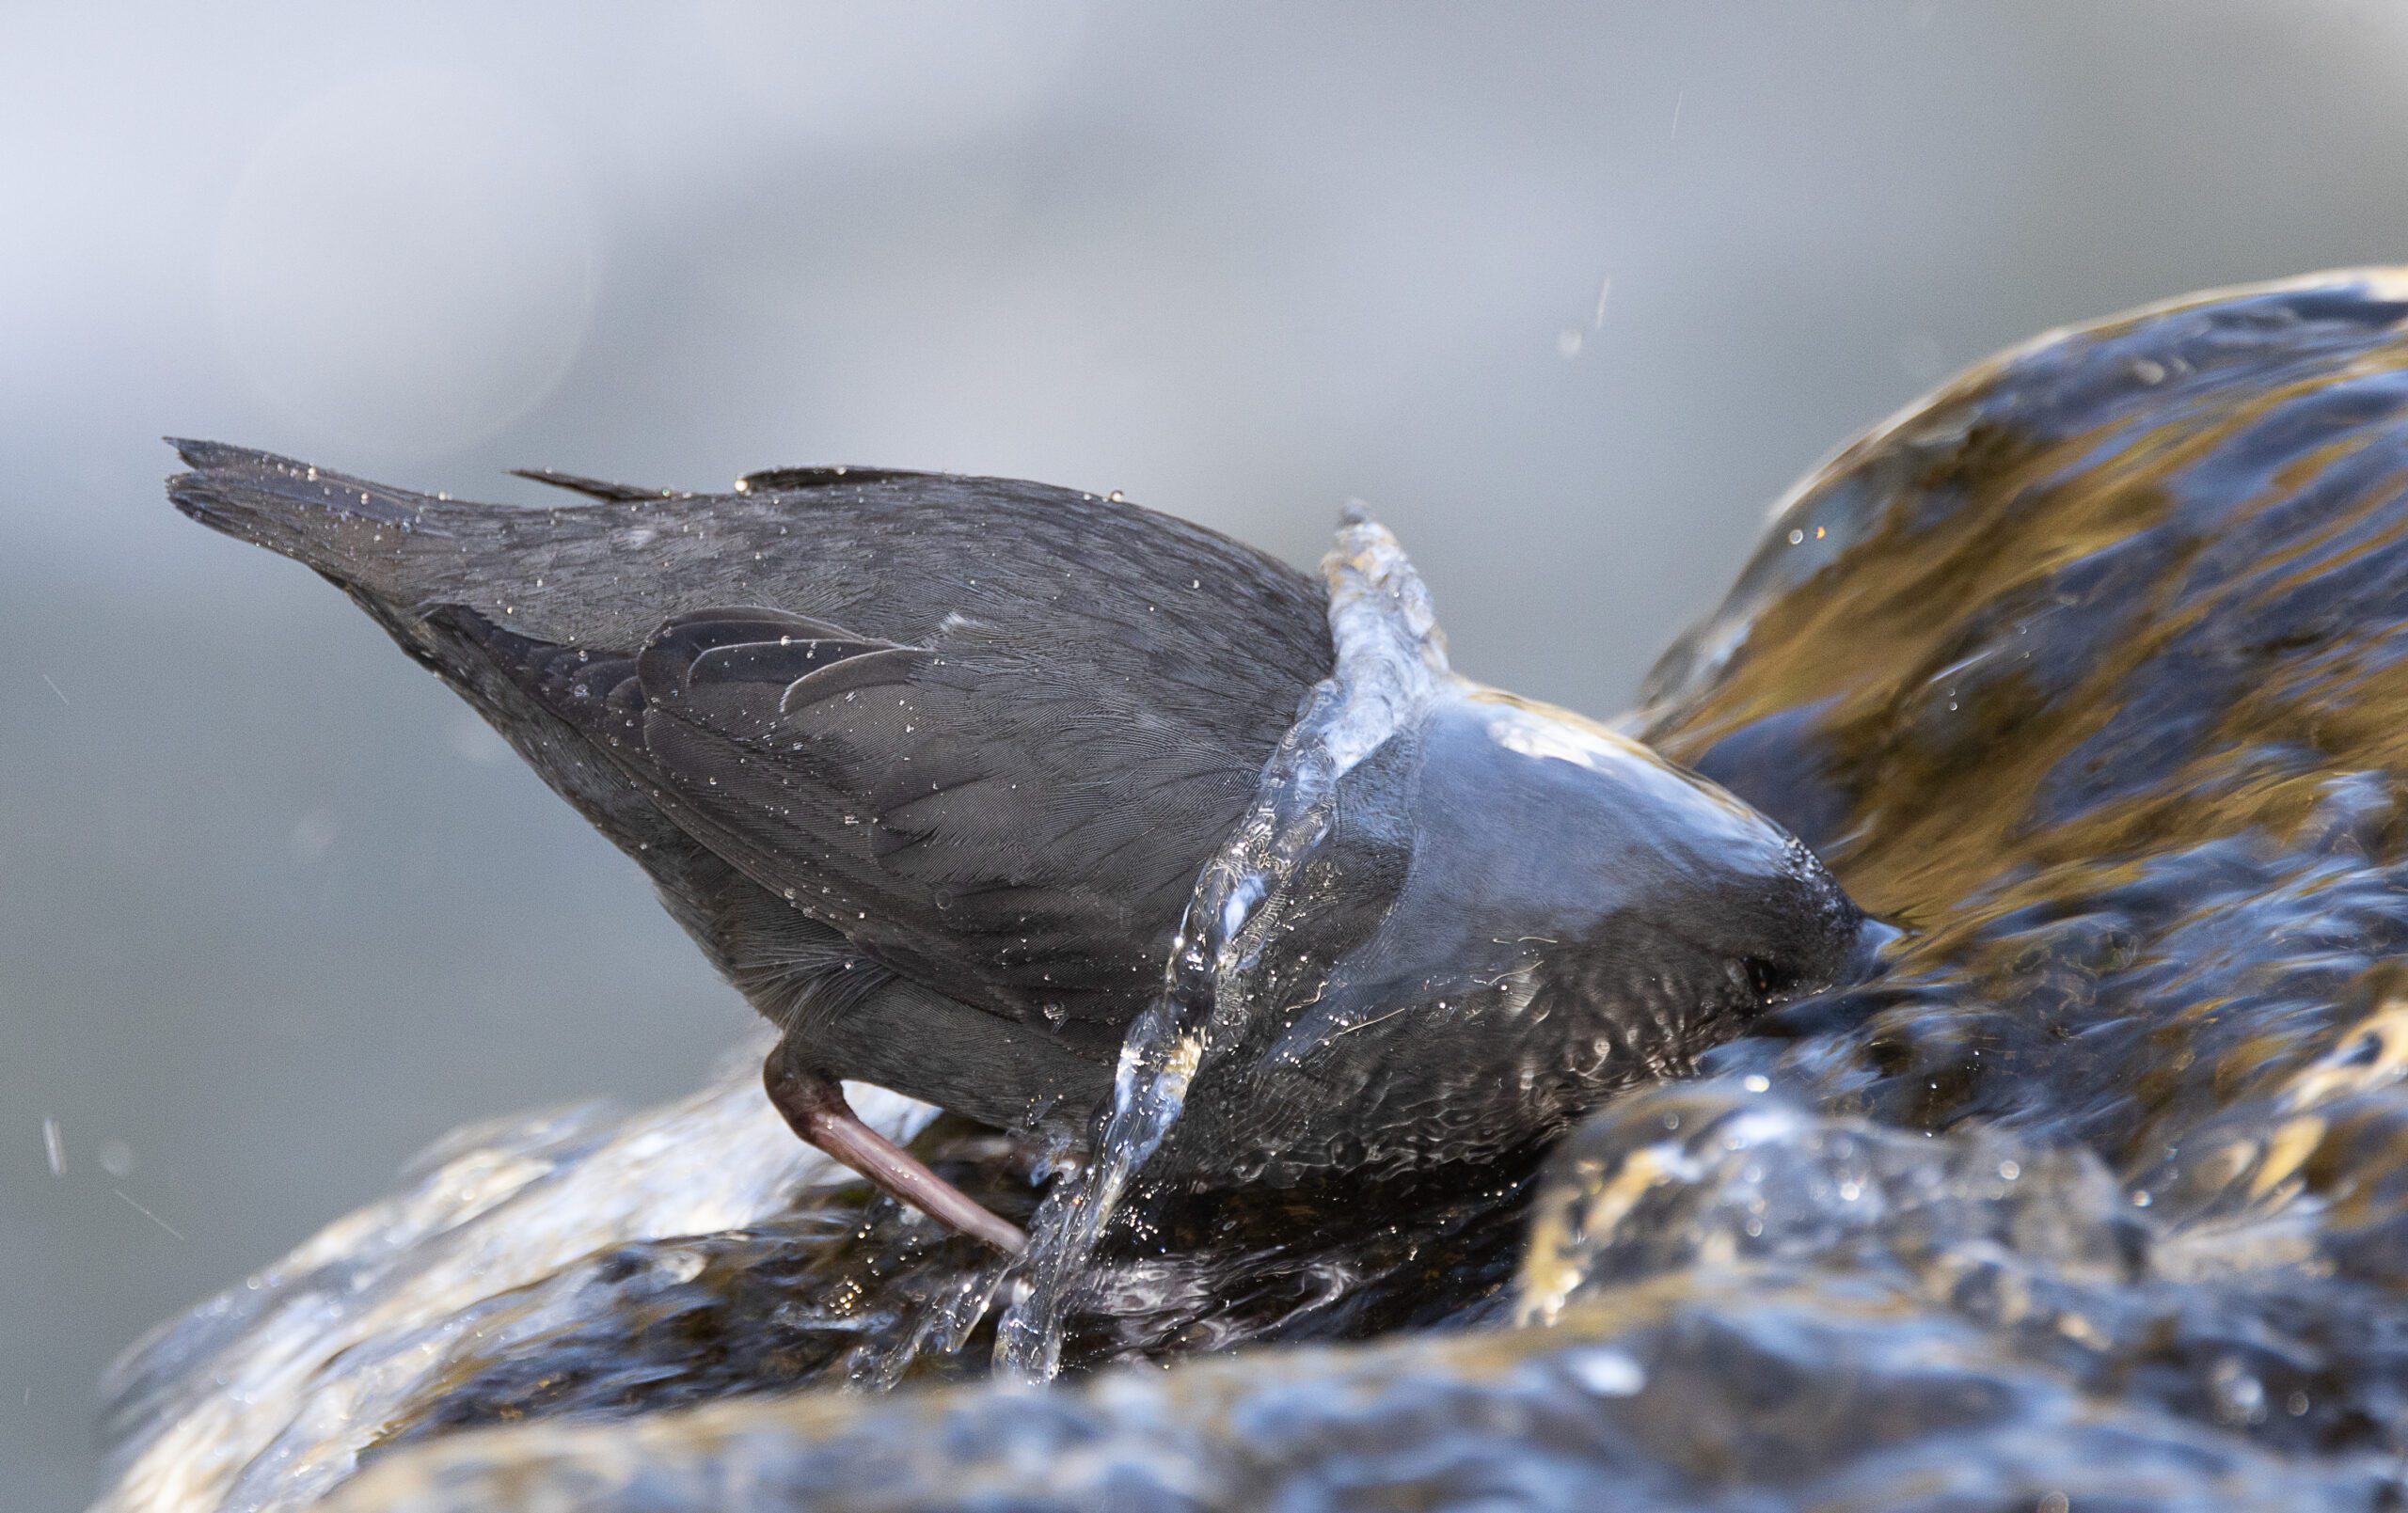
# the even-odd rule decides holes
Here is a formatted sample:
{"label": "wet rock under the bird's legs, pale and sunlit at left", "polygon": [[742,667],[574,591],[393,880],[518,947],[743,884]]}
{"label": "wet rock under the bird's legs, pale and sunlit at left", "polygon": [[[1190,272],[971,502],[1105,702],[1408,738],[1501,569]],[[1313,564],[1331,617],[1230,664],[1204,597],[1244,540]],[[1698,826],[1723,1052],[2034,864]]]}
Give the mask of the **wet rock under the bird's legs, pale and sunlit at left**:
{"label": "wet rock under the bird's legs, pale and sunlit at left", "polygon": [[[628,1116],[472,1128],[400,1195],[169,1325],[120,1366],[96,1508],[311,1508],[361,1465],[503,1424],[982,1378],[1004,1265],[795,1143],[734,1058]],[[1033,1152],[872,1094],[864,1116],[992,1210]],[[1067,1359],[1175,1359],[1503,1313],[1527,1171],[1339,1195],[1153,1195],[1115,1227]]]}

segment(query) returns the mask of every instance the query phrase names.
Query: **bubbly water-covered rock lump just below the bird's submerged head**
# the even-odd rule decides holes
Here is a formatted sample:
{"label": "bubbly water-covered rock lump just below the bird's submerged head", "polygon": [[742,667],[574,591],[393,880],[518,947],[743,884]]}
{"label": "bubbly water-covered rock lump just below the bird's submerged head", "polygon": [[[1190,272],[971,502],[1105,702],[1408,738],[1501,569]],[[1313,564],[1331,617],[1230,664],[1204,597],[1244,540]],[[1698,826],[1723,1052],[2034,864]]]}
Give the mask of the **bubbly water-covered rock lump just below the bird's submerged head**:
{"label": "bubbly water-covered rock lump just below the bird's submerged head", "polygon": [[2408,1316],[2336,1275],[2302,1210],[2167,1222],[2083,1147],[1820,1116],[1729,1085],[1623,1099],[1558,1152],[1519,1316],[1649,1287],[1722,1309],[1890,1299],[1898,1333],[2283,1450],[2398,1455]]}

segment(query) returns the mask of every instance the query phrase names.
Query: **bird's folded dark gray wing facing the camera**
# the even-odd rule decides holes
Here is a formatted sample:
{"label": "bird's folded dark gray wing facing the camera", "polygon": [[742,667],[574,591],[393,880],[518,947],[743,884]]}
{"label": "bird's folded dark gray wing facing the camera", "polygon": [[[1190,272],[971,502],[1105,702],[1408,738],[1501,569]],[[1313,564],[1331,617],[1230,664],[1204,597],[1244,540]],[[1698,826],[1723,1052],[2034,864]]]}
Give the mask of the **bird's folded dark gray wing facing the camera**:
{"label": "bird's folded dark gray wing facing the camera", "polygon": [[771,892],[949,996],[1098,1032],[1153,989],[1202,859],[1317,671],[1240,676],[1226,635],[1158,609],[1086,630],[1057,616],[1060,642],[1031,647],[1026,625],[970,616],[905,645],[713,606],[626,652],[450,613]]}

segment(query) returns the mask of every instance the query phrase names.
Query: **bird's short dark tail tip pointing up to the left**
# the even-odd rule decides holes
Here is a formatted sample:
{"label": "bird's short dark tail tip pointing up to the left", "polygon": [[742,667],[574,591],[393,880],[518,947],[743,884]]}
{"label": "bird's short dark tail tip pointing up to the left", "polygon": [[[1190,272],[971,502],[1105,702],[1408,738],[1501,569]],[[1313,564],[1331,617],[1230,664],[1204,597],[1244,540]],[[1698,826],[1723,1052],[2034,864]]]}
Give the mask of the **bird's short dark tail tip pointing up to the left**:
{"label": "bird's short dark tail tip pointing up to the left", "polygon": [[429,568],[458,556],[474,505],[325,471],[214,440],[169,440],[193,471],[166,496],[209,529],[308,563],[335,582],[412,599]]}

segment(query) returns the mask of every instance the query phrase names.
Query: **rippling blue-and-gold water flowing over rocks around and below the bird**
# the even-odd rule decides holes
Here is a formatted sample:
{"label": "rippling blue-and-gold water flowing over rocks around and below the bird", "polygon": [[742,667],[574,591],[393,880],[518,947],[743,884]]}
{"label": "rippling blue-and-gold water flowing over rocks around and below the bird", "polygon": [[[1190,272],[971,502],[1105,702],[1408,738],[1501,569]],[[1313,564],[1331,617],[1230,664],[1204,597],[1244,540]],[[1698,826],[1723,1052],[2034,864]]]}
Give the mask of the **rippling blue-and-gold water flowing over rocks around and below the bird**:
{"label": "rippling blue-and-gold water flowing over rocks around and below the bird", "polygon": [[104,1508],[2401,1506],[2403,322],[2056,334],[1801,483],[1630,724],[1910,936],[1544,1169],[1137,1191],[1028,1390],[749,1075],[467,1133],[123,1366]]}

